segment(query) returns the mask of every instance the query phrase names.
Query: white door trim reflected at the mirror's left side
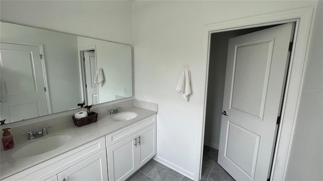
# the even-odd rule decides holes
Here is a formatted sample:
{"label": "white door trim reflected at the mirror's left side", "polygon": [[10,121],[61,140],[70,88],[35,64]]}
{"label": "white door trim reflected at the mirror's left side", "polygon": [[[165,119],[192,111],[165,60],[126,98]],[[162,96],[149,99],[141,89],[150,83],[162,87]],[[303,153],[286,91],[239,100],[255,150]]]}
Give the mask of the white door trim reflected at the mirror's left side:
{"label": "white door trim reflected at the mirror's left side", "polygon": [[48,111],[48,115],[50,115],[51,114],[51,103],[50,103],[50,97],[49,97],[50,93],[49,93],[49,88],[48,88],[47,71],[46,71],[45,54],[44,54],[43,45],[39,44],[39,43],[31,43],[31,42],[23,42],[23,41],[15,41],[15,40],[4,40],[4,39],[1,39],[0,42],[39,47],[39,52],[41,54],[40,59],[41,59],[42,76],[44,79],[44,86],[46,88],[45,97],[46,97],[47,111]]}

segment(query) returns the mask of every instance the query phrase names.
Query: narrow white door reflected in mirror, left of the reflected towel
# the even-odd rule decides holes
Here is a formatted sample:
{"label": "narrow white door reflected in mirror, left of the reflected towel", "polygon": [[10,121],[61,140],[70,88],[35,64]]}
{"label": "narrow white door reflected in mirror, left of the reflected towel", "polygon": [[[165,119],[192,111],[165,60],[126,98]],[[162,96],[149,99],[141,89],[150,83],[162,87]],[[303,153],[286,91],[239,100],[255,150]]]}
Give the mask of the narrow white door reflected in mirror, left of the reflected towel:
{"label": "narrow white door reflected in mirror, left of the reflected towel", "polygon": [[96,74],[96,58],[95,51],[83,51],[83,72],[85,80],[85,102],[87,105],[98,104],[97,85],[94,83]]}

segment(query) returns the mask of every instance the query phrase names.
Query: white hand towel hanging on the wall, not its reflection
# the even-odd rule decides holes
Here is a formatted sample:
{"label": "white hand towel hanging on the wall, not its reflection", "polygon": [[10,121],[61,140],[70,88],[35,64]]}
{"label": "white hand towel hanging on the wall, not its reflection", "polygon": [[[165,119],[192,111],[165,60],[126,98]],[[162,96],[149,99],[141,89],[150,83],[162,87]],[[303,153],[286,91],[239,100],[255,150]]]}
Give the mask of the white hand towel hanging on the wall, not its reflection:
{"label": "white hand towel hanging on the wall, not its reflection", "polygon": [[183,70],[180,79],[178,80],[176,91],[188,101],[188,95],[191,94],[191,71]]}

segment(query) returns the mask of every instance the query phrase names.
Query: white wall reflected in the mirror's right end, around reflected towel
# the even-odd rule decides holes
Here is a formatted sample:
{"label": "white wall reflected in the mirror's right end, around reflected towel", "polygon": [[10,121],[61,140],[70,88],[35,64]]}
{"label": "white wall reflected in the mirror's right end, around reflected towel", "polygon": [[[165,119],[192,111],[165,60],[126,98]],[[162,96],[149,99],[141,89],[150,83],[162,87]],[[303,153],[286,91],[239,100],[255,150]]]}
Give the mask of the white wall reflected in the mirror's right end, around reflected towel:
{"label": "white wall reflected in the mirror's right end, around reflected towel", "polygon": [[114,101],[116,96],[132,97],[131,46],[79,36],[77,43],[78,47],[95,45],[97,68],[103,69],[105,78],[103,86],[98,86],[99,103]]}

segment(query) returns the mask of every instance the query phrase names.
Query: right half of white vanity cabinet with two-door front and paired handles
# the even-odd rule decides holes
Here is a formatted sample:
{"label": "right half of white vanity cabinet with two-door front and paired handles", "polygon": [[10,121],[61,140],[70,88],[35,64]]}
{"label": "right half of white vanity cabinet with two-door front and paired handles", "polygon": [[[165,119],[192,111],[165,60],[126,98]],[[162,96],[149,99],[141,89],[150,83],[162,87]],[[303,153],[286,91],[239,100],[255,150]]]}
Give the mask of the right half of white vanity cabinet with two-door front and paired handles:
{"label": "right half of white vanity cabinet with two-door front and paired handles", "polygon": [[106,148],[109,181],[125,180],[156,154],[155,115],[132,128],[107,135],[107,145],[114,138],[121,141]]}

